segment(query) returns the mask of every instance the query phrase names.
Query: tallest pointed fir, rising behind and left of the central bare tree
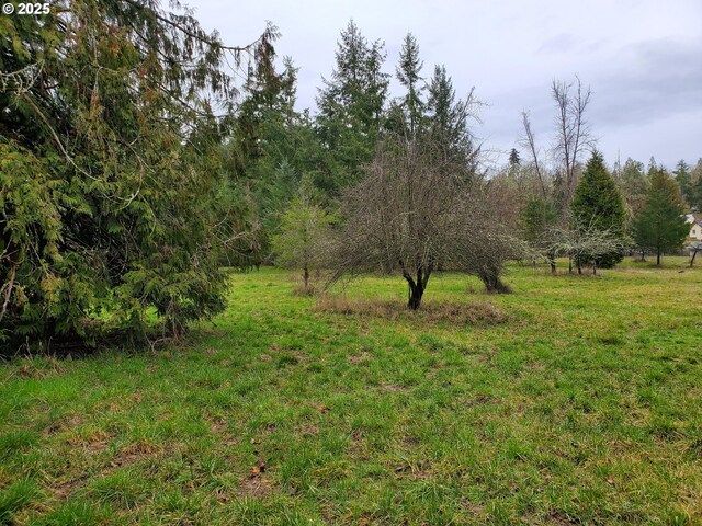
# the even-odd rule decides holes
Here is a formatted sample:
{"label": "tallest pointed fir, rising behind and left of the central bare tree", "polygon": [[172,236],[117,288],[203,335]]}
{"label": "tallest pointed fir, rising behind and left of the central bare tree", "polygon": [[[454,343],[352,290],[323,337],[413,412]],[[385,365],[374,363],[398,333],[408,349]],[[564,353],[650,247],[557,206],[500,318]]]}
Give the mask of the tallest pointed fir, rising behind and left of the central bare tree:
{"label": "tallest pointed fir, rising behind and left of the central bare tree", "polygon": [[389,82],[381,70],[384,44],[369,44],[353,20],[341,32],[335,59],[331,79],[324,79],[317,96],[316,119],[327,151],[317,184],[330,194],[358,182],[373,158]]}

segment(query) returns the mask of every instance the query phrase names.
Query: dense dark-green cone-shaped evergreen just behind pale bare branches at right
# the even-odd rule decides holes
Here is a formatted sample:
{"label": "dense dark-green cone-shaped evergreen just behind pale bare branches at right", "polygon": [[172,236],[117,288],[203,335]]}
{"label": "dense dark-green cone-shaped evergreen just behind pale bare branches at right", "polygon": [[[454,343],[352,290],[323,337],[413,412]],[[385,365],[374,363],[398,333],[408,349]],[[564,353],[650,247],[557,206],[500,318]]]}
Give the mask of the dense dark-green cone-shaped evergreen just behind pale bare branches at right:
{"label": "dense dark-green cone-shaped evergreen just behind pale bare branches at right", "polygon": [[[575,229],[597,229],[608,232],[613,238],[624,239],[625,215],[622,195],[599,151],[593,151],[587,163],[573,196],[570,213]],[[596,261],[597,266],[611,267],[620,262],[623,255],[622,250],[600,254]]]}

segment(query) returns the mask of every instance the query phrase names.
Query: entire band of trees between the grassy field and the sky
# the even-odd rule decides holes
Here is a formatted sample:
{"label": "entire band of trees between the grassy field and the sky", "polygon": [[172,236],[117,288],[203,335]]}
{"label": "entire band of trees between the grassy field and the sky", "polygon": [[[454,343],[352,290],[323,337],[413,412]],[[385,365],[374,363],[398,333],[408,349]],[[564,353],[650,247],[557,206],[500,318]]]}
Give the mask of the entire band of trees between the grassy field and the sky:
{"label": "entire band of trees between the grassy field and the sky", "polygon": [[178,335],[224,308],[224,266],[278,262],[304,268],[306,285],[315,266],[331,279],[397,272],[410,308],[441,268],[506,291],[509,259],[611,266],[633,232],[654,247],[660,221],[646,214],[658,202],[681,213],[678,186],[701,201],[700,164],[678,165],[673,185],[654,164],[610,174],[595,152],[586,167],[579,79],[554,82],[555,148],[540,150],[524,114],[521,153],[488,174],[472,134],[479,101],[456,93],[445,67],[426,68],[412,34],[393,98],[384,43],[350,22],[313,114],[296,110],[297,68],[278,59],[273,26],[230,47],[158,0],[67,0],[3,16],[0,33],[11,352],[114,330],[141,340],[154,313]]}

